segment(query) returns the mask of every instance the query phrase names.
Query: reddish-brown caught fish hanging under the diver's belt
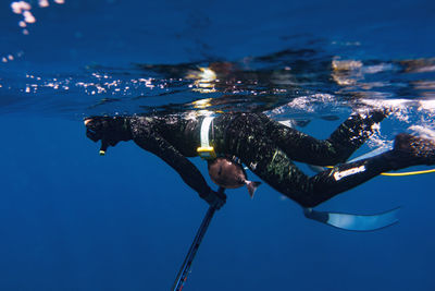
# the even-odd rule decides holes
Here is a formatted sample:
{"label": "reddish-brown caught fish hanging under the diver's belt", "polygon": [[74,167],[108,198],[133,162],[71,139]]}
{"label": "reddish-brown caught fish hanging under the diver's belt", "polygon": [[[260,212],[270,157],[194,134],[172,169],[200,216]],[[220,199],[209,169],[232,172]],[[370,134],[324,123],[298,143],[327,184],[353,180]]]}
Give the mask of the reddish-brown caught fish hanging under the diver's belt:
{"label": "reddish-brown caught fish hanging under the diver's belt", "polygon": [[261,182],[247,180],[247,174],[241,165],[229,158],[216,158],[209,160],[209,174],[211,180],[221,187],[236,189],[246,185],[249,196],[253,197]]}

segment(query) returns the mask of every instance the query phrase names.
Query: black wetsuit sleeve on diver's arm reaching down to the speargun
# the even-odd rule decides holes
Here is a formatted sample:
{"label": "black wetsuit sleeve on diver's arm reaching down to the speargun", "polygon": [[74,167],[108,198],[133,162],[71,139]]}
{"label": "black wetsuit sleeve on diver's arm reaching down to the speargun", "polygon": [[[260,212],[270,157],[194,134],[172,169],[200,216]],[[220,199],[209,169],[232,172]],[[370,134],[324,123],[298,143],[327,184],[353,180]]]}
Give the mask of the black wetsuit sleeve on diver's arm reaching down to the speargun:
{"label": "black wetsuit sleeve on diver's arm reaching down to the speargun", "polygon": [[174,146],[157,133],[141,132],[134,134],[134,142],[141,148],[157,155],[182,177],[183,181],[202,197],[210,192],[210,186],[201,172]]}

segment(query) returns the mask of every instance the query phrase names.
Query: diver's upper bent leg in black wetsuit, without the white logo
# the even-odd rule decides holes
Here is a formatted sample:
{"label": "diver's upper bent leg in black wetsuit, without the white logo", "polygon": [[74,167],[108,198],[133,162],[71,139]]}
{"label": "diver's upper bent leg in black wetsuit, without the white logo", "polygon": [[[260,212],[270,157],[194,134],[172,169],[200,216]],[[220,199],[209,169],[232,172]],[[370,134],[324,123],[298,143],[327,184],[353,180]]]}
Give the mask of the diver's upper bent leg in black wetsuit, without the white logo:
{"label": "diver's upper bent leg in black wetsuit, without the white logo", "polygon": [[286,154],[297,161],[316,166],[345,162],[370,137],[374,124],[387,116],[384,111],[352,113],[325,141],[316,140],[295,129],[261,116],[268,134]]}

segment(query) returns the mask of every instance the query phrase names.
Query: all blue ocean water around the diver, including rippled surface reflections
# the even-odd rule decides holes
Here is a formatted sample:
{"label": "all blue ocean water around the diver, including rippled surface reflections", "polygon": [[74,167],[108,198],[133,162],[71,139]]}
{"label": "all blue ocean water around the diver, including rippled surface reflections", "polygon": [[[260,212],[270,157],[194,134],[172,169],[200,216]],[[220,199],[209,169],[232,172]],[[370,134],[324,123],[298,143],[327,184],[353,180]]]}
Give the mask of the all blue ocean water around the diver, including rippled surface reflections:
{"label": "all blue ocean water around the diver, including rippled surface reflections", "polygon": [[[86,117],[265,112],[326,138],[386,106],[357,155],[434,137],[434,15],[423,0],[2,0],[0,290],[173,284],[208,205],[132,142],[99,156]],[[264,183],[253,199],[226,193],[186,291],[435,290],[434,174],[378,177],[318,207],[401,206],[374,232],[308,220]]]}

